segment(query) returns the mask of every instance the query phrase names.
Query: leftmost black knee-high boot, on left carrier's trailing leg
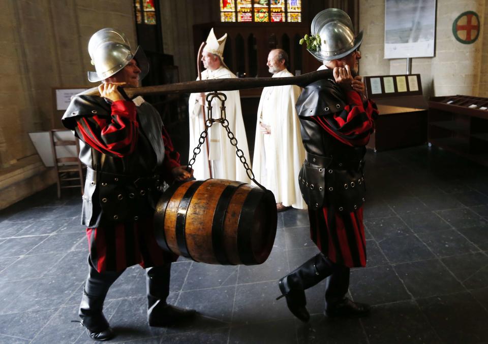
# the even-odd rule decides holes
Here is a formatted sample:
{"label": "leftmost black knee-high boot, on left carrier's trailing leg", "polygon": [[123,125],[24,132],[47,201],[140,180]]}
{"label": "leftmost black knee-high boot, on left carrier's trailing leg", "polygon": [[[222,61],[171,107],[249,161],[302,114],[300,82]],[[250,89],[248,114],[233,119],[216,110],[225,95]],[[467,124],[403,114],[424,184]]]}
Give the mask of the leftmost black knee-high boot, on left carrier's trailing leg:
{"label": "leftmost black knee-high boot, on left carrier's trailing leg", "polygon": [[101,341],[108,340],[113,337],[113,332],[103,315],[103,302],[108,289],[123,271],[100,273],[90,262],[88,265],[89,272],[78,315],[81,318],[81,325],[86,328],[90,338]]}

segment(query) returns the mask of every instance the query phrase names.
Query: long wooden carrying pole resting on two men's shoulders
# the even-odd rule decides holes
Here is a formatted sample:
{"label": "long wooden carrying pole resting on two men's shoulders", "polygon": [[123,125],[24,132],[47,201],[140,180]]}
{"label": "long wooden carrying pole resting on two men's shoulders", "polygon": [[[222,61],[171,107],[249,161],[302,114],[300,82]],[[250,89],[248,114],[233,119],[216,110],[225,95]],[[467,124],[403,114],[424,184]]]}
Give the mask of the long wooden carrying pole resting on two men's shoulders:
{"label": "long wooden carrying pole resting on two men's shoulders", "polygon": [[[332,70],[323,70],[287,78],[237,78],[237,79],[214,79],[180,82],[159,86],[144,86],[137,88],[124,88],[129,98],[138,95],[150,94],[181,94],[201,93],[213,91],[234,91],[248,88],[260,88],[269,86],[297,85],[305,87],[317,80],[333,79]],[[87,95],[99,95],[98,87],[90,88],[81,93]]]}

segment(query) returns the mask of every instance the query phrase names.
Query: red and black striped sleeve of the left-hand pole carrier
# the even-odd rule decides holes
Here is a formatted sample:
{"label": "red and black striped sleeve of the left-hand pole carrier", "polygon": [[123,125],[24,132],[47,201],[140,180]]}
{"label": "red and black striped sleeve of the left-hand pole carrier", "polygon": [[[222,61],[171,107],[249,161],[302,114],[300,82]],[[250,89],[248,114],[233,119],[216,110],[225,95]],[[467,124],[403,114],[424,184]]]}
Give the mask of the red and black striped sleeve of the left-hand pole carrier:
{"label": "red and black striped sleeve of the left-hand pole carrier", "polygon": [[137,144],[139,124],[132,101],[117,100],[111,104],[111,116],[89,116],[77,119],[80,139],[103,154],[119,158],[131,154]]}

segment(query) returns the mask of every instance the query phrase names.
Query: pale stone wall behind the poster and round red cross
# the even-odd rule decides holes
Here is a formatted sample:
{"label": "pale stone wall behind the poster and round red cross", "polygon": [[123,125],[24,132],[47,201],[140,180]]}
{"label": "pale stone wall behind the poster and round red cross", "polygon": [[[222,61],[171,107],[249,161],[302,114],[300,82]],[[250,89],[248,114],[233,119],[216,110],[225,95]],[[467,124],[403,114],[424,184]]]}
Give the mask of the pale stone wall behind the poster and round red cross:
{"label": "pale stone wall behind the poster and round red cross", "polygon": [[[452,35],[454,19],[465,11],[480,17],[478,40],[470,45],[457,42]],[[365,0],[360,4],[359,25],[365,37],[361,45],[362,75],[405,74],[406,59],[384,59],[384,0]],[[435,57],[413,58],[411,73],[421,74],[425,96],[466,94],[488,96],[488,35],[483,30],[485,4],[480,0],[437,0]],[[483,46],[487,47],[483,49]],[[482,63],[483,62],[483,63]]]}

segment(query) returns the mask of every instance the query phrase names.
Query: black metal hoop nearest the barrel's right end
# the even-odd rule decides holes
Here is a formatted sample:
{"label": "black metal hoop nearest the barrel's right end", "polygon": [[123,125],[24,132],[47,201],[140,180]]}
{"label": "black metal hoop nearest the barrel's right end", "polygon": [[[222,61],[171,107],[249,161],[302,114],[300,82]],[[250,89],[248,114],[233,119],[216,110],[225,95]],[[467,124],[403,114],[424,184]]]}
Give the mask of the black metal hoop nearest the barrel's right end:
{"label": "black metal hoop nearest the barrel's right end", "polygon": [[254,188],[246,197],[242,204],[242,210],[239,216],[237,226],[237,252],[242,264],[255,265],[257,261],[251,250],[251,236],[254,226],[254,212],[256,211],[256,204],[259,204],[259,199],[264,196],[262,189]]}

